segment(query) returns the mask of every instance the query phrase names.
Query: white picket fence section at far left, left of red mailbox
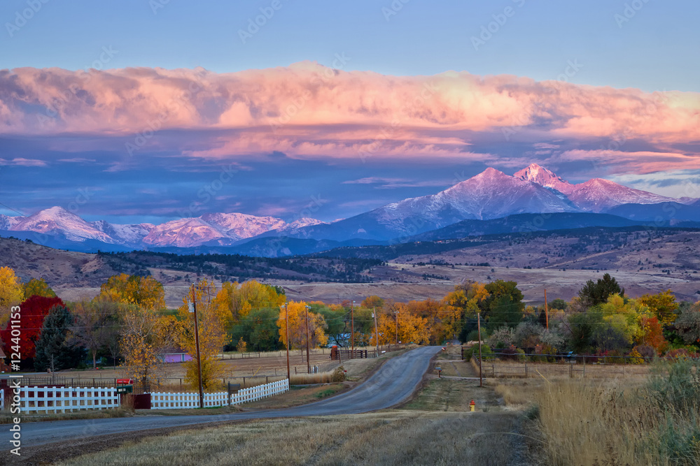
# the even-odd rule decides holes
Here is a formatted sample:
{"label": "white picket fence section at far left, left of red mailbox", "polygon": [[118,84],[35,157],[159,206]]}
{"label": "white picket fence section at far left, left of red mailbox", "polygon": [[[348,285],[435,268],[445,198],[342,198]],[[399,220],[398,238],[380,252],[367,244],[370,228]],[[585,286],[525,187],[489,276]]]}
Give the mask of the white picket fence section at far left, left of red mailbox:
{"label": "white picket fence section at far left, left of red mailbox", "polygon": [[29,387],[20,388],[20,412],[64,413],[119,407],[116,388]]}

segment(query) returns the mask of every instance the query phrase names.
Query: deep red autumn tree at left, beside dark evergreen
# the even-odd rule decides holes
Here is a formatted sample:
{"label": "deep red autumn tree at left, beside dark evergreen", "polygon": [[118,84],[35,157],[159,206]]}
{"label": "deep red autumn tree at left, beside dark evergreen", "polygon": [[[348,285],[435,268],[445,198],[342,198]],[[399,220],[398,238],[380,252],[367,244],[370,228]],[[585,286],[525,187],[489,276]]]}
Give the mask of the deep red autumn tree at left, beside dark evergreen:
{"label": "deep red autumn tree at left, beside dark evergreen", "polygon": [[[20,304],[20,351],[22,361],[34,358],[36,355],[36,341],[38,340],[43,321],[54,306],[63,306],[60,298],[45,298],[43,296],[31,296]],[[0,330],[0,338],[3,341],[5,354],[10,354],[8,346],[11,341],[11,328],[8,323],[4,330]]]}

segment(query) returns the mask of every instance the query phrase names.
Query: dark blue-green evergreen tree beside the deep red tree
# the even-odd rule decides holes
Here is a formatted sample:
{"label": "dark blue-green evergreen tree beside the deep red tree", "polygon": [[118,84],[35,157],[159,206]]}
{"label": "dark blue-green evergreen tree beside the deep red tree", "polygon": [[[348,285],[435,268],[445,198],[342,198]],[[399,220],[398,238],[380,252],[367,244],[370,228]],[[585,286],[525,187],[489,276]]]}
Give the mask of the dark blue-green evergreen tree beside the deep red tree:
{"label": "dark blue-green evergreen tree beside the deep red tree", "polygon": [[56,370],[76,367],[85,356],[83,348],[67,341],[73,324],[73,316],[65,306],[54,306],[43,321],[41,333],[36,342],[36,370]]}

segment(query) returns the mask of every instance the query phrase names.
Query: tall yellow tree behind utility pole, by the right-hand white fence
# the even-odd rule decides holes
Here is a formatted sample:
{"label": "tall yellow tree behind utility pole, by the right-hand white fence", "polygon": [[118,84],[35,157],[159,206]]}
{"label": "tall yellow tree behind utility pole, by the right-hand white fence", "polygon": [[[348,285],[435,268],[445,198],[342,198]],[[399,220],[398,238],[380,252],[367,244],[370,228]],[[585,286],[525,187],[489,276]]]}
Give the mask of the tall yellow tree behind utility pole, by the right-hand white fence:
{"label": "tall yellow tree behind utility pole, by the right-hand white fence", "polygon": [[[200,335],[200,360],[202,364],[202,386],[205,390],[214,388],[216,380],[223,374],[224,366],[218,359],[223,347],[229,341],[226,333],[225,315],[221,313],[221,307],[216,303],[218,295],[214,282],[207,279],[198,282],[194,286],[197,300],[197,327]],[[190,386],[197,387],[199,372],[197,370],[197,345],[195,341],[195,314],[190,312],[190,303],[193,302],[193,291],[183,298],[183,305],[179,308],[181,332],[179,343],[181,347],[192,356],[192,361],[185,363],[186,379]]]}

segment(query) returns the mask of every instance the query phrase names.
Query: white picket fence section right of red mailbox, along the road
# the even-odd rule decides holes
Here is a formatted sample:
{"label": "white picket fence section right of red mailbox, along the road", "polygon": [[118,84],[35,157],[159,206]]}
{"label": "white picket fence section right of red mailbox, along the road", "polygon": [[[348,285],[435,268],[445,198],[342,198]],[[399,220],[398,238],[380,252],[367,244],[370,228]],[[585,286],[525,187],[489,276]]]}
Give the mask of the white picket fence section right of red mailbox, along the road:
{"label": "white picket fence section right of red mailbox, along the road", "polygon": [[[244,388],[231,395],[231,404],[261,400],[273,395],[279,395],[289,390],[289,380],[284,379],[269,384]],[[228,393],[204,393],[204,406],[228,406]],[[151,409],[179,409],[200,407],[199,393],[151,393]]]}

